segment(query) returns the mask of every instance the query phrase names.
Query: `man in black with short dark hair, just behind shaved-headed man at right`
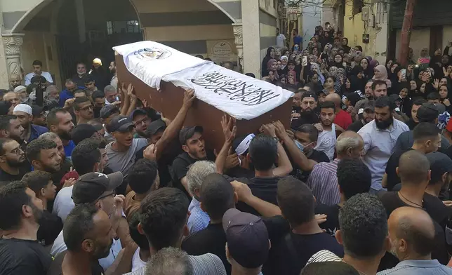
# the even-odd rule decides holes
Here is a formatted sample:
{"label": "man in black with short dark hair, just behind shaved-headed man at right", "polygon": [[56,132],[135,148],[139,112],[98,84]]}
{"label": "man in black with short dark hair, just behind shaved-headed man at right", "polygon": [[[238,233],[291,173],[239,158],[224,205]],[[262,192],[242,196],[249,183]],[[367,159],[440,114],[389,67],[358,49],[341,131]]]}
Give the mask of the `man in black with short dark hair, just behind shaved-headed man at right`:
{"label": "man in black with short dark hair, just behind shaved-headed man at right", "polygon": [[382,187],[392,191],[395,185],[400,182],[400,177],[397,175],[396,168],[399,166],[399,159],[404,152],[416,150],[422,154],[430,152],[437,152],[441,146],[441,134],[436,125],[427,122],[421,122],[413,130],[413,146],[406,150],[396,151],[387,161],[385,175],[381,182]]}

